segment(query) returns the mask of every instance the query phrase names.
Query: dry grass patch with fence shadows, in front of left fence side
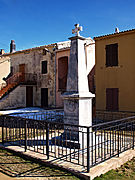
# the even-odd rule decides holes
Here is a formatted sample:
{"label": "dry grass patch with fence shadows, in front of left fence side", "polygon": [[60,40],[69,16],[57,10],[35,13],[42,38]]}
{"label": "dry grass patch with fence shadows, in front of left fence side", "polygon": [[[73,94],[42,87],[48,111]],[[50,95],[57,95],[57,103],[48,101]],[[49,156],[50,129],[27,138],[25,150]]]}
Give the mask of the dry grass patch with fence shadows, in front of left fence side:
{"label": "dry grass patch with fence shadows, in front of left fence side", "polygon": [[0,149],[0,171],[11,177],[46,177],[49,179],[79,180],[71,173],[26,160],[5,149]]}

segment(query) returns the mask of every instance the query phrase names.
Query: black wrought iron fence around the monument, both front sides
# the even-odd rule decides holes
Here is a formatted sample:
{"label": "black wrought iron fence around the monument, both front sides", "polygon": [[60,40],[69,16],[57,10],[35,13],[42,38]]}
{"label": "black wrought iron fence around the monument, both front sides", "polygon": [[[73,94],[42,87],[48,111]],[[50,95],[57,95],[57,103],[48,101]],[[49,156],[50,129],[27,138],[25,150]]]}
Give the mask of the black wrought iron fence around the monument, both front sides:
{"label": "black wrought iron fence around the monument, both front sides", "polygon": [[[38,117],[38,116],[37,116]],[[61,118],[61,116],[59,117]],[[61,121],[62,122],[62,121]],[[135,116],[90,127],[31,116],[1,116],[2,143],[90,168],[134,148]]]}

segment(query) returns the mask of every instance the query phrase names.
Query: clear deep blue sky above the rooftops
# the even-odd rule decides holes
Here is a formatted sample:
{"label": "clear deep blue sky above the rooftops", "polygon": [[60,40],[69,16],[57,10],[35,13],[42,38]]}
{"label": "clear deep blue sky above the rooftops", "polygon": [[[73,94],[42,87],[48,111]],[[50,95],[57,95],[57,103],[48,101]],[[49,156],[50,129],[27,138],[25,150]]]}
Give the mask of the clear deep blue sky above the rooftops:
{"label": "clear deep blue sky above the rooftops", "polygon": [[68,40],[74,24],[94,37],[135,28],[134,0],[0,0],[0,48],[9,51]]}

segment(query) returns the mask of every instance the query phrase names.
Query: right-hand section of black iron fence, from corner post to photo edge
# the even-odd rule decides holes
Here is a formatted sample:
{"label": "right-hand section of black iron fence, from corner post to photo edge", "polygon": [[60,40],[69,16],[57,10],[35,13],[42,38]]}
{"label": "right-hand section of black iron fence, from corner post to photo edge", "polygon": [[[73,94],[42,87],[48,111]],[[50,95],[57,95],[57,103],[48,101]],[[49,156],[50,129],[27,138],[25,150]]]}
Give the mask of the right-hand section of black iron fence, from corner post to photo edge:
{"label": "right-hand section of black iron fence, from corner post to photo edge", "polygon": [[135,116],[92,126],[90,167],[134,148]]}

